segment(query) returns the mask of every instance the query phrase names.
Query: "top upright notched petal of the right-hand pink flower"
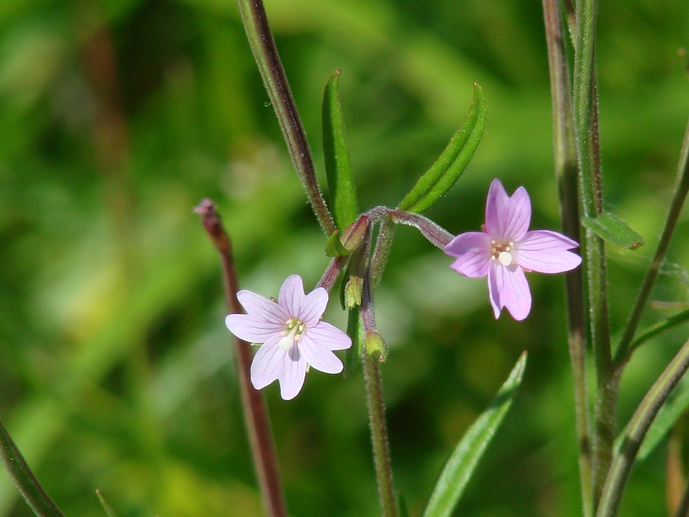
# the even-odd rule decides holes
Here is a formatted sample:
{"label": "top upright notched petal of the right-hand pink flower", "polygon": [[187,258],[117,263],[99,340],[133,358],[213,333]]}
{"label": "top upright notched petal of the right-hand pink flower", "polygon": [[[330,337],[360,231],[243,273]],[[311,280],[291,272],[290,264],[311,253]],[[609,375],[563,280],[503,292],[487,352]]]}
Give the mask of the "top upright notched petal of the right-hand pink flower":
{"label": "top upright notched petal of the right-hand pink flower", "polygon": [[531,200],[524,187],[510,197],[499,179],[494,179],[486,200],[486,232],[495,240],[517,241],[531,223]]}

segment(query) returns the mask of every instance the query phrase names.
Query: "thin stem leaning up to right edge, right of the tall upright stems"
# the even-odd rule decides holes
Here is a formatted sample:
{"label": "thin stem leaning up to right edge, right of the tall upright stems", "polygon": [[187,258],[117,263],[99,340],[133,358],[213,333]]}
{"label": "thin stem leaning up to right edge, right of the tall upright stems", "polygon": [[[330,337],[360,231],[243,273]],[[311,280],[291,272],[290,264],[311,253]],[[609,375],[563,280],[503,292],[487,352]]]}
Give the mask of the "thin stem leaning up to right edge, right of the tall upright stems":
{"label": "thin stem leaning up to right edge, right of the tall upright stems", "polygon": [[662,261],[665,258],[667,247],[669,246],[672,233],[676,226],[677,220],[679,219],[679,214],[682,211],[682,206],[684,205],[684,201],[687,198],[688,192],[689,124],[687,125],[687,129],[684,134],[684,142],[682,144],[679,165],[677,167],[677,180],[674,195],[672,196],[670,208],[667,212],[665,226],[662,229],[660,241],[658,242],[658,247],[655,250],[655,255],[653,256],[653,261],[651,261],[650,266],[648,267],[646,278],[643,280],[643,284],[641,284],[639,296],[636,297],[636,303],[634,304],[634,309],[632,309],[632,315],[629,316],[627,327],[625,328],[625,332],[622,334],[622,338],[620,339],[620,345],[618,345],[617,351],[615,352],[615,364],[617,364],[618,366],[624,364],[627,361],[627,359],[629,359],[629,356],[632,354],[632,351],[635,348],[634,345],[632,345],[634,333],[636,333],[636,328],[639,326],[639,321],[641,319],[643,309],[646,308],[648,296],[650,296],[650,290],[653,288],[655,279],[658,275],[658,272],[660,271],[660,266],[662,266]]}

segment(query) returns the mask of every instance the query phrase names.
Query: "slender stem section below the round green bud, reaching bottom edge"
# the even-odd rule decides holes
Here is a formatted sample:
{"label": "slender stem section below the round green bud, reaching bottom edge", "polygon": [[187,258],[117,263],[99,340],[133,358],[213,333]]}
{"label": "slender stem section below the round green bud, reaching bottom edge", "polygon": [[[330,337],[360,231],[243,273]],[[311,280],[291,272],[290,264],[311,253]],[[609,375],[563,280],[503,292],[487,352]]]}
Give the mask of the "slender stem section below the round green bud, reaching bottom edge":
{"label": "slender stem section below the round green bud, reaching bottom edge", "polygon": [[373,460],[375,461],[375,476],[378,482],[378,496],[380,497],[383,517],[396,517],[397,506],[392,482],[390,446],[385,423],[385,404],[383,401],[382,382],[380,380],[380,367],[366,350],[363,351],[362,355],[363,373],[366,379],[368,415],[371,426],[371,441],[373,443]]}

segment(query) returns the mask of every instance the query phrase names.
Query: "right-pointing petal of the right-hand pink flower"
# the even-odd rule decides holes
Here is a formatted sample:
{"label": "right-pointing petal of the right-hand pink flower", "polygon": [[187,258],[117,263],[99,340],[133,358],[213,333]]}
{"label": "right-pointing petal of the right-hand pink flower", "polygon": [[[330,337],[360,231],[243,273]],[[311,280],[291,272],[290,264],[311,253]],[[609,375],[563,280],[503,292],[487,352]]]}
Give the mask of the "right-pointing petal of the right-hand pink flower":
{"label": "right-pointing petal of the right-hand pink flower", "polygon": [[517,243],[517,264],[538,273],[563,273],[581,263],[581,257],[569,249],[578,247],[575,241],[550,230],[527,232]]}

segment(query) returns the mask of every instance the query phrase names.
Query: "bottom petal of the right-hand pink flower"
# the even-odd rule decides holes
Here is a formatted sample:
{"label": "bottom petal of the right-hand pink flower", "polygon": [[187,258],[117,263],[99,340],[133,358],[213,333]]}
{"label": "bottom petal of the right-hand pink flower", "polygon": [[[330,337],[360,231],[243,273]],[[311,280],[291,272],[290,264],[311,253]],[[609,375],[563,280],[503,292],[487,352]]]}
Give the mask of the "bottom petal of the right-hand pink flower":
{"label": "bottom petal of the right-hand pink flower", "polygon": [[531,291],[527,277],[519,266],[492,263],[488,273],[488,291],[496,319],[503,307],[510,311],[517,322],[529,315]]}

